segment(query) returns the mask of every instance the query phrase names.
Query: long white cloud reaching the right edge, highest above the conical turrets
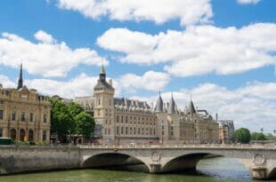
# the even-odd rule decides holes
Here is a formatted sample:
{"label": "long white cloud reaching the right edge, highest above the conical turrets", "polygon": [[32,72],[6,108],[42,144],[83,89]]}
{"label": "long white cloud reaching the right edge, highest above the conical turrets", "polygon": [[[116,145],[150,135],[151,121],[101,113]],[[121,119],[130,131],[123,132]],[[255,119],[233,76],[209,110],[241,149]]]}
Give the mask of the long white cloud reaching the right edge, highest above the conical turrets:
{"label": "long white cloud reaching the right edge, highest above the conical turrets", "polygon": [[110,28],[97,44],[122,53],[122,62],[152,65],[178,76],[237,74],[276,64],[276,24],[257,23],[243,28],[214,26],[168,30],[151,36],[126,28]]}

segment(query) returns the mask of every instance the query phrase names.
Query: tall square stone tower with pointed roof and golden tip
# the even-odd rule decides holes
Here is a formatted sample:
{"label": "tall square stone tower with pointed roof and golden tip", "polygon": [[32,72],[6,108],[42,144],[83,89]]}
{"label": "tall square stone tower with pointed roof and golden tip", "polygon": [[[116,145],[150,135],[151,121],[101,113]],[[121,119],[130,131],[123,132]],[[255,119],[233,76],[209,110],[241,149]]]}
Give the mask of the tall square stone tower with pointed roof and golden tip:
{"label": "tall square stone tower with pointed roof and golden tip", "polygon": [[96,122],[94,136],[102,138],[102,143],[111,143],[115,138],[114,92],[112,81],[106,81],[106,73],[101,66],[100,78],[93,88],[94,119]]}

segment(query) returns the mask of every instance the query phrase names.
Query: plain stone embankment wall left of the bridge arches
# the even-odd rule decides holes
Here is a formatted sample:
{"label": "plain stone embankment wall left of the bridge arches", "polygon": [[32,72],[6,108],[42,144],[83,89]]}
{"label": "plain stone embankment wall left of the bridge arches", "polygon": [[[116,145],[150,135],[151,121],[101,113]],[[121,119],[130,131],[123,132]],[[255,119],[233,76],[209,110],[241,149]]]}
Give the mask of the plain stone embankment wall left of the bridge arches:
{"label": "plain stone embankment wall left of the bridge arches", "polygon": [[68,146],[0,146],[0,173],[79,168],[80,149]]}

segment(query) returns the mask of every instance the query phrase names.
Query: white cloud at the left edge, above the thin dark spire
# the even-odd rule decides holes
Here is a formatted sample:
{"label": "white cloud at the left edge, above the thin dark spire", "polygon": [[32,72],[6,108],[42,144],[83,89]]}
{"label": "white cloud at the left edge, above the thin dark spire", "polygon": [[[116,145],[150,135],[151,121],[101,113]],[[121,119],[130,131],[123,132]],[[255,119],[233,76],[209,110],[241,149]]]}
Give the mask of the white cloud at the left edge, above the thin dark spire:
{"label": "white cloud at the left edge, above the thin dark spire", "polygon": [[20,36],[3,33],[0,37],[0,64],[9,67],[23,67],[30,74],[44,76],[65,76],[78,64],[96,65],[108,64],[96,51],[89,48],[71,49],[66,43],[57,41],[43,30],[37,31],[35,38],[38,43],[32,43]]}

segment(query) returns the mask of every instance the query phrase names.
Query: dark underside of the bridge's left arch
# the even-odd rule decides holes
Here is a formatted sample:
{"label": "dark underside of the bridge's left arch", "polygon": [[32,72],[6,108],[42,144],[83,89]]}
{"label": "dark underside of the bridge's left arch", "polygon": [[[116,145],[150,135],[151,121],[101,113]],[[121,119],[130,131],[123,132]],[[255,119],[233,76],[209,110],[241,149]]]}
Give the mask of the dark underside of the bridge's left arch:
{"label": "dark underside of the bridge's left arch", "polygon": [[143,164],[146,166],[146,172],[150,172],[150,166],[143,159],[132,156],[131,154],[123,153],[101,153],[93,154],[82,162],[83,168],[101,168],[101,167],[111,167],[111,166],[124,166],[124,165],[134,165]]}

